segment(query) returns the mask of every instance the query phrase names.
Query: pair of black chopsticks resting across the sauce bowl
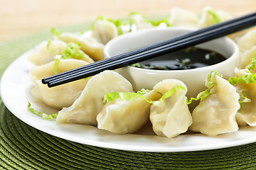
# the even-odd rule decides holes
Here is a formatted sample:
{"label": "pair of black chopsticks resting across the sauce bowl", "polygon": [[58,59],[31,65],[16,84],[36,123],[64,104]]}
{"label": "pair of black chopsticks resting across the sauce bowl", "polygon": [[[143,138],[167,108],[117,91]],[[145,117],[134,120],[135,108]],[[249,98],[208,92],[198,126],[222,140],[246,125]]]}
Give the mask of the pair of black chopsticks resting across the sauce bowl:
{"label": "pair of black chopsticks resting across the sauce bowl", "polygon": [[71,69],[68,72],[63,72],[52,77],[42,79],[42,83],[48,84],[49,87],[58,86],[60,84],[93,76],[106,69],[118,69],[159,55],[164,55],[168,52],[174,52],[215,38],[220,38],[224,35],[235,33],[239,30],[250,28],[255,25],[256,12],[196,30],[191,33],[186,33],[169,40],[164,40],[163,42],[159,42],[154,45],[142,47],[137,50],[132,50],[131,52],[126,52],[76,69]]}

